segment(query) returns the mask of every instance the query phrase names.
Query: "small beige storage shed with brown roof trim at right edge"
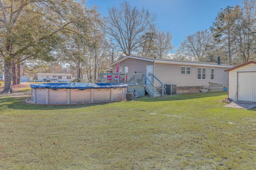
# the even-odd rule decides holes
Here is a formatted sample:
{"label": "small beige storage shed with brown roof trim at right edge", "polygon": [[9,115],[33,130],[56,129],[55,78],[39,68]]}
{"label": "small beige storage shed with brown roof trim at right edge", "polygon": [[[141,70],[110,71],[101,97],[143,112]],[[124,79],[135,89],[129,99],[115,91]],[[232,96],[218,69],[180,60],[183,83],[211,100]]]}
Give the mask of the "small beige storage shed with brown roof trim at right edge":
{"label": "small beige storage shed with brown roof trim at right edge", "polygon": [[232,100],[256,102],[256,61],[234,66],[228,72],[228,97]]}

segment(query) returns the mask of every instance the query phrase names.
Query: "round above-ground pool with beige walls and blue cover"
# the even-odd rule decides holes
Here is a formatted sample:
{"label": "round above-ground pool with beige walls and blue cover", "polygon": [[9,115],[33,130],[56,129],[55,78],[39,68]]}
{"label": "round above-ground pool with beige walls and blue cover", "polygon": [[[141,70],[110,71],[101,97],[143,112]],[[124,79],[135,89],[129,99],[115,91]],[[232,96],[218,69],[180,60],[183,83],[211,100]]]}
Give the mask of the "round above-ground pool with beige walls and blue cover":
{"label": "round above-ground pool with beige walls and blue cover", "polygon": [[126,99],[127,84],[44,83],[30,84],[31,100],[38,104],[78,104]]}

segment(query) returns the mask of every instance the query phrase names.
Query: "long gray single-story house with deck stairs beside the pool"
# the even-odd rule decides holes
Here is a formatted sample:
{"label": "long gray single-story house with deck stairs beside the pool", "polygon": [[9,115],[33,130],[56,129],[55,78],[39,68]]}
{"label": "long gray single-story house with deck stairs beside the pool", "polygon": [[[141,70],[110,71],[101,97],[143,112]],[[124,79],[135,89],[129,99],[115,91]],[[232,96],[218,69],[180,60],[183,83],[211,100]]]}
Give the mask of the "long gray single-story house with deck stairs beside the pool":
{"label": "long gray single-story house with deck stairs beside the pool", "polygon": [[[154,74],[163,84],[184,86],[209,86],[209,82],[227,86],[226,69],[233,66],[219,63],[202,63],[194,61],[175,61],[126,56],[119,61],[119,73],[144,73],[148,78]],[[118,61],[111,64],[116,72]],[[220,59],[218,59],[220,61]],[[158,86],[158,82],[154,84]]]}

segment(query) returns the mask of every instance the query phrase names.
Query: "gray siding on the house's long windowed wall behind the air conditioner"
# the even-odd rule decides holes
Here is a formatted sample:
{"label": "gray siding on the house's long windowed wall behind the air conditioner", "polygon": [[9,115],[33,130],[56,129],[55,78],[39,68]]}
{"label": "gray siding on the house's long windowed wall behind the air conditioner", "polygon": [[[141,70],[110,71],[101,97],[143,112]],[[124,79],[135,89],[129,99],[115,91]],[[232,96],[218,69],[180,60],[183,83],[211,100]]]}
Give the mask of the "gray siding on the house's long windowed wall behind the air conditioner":
{"label": "gray siding on the house's long windowed wall behind the air conditioner", "polygon": [[[181,66],[190,66],[191,74],[181,74]],[[176,84],[177,86],[209,86],[209,82],[228,84],[227,68],[216,66],[155,63],[154,75],[164,84]],[[198,67],[206,68],[206,80],[198,80]],[[214,80],[211,80],[211,68],[214,69]],[[157,83],[156,83],[157,85]]]}

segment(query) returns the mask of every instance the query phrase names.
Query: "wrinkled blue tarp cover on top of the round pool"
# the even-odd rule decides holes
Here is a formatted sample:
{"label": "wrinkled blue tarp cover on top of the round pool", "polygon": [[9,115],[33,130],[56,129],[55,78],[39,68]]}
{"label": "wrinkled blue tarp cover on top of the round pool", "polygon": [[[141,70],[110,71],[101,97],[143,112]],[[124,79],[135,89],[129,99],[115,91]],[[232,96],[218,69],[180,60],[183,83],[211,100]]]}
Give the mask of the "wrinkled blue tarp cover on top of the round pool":
{"label": "wrinkled blue tarp cover on top of the round pool", "polygon": [[128,84],[122,83],[44,83],[30,84],[31,88],[50,88],[56,90],[58,88],[85,90],[90,88],[126,88]]}

